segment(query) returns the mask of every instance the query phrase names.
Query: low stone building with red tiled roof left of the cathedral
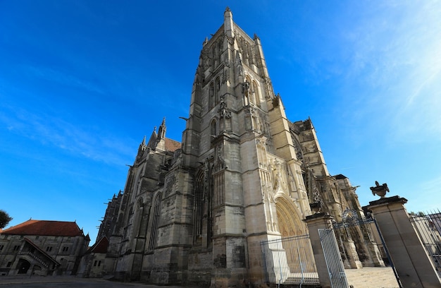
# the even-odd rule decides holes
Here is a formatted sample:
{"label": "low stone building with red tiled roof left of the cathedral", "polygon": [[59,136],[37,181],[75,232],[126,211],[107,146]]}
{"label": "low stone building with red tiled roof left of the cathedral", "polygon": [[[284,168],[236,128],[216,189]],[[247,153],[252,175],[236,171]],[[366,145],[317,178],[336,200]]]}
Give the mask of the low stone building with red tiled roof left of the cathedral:
{"label": "low stone building with red tiled roof left of the cathedral", "polygon": [[75,275],[89,241],[76,222],[27,220],[0,230],[0,275]]}

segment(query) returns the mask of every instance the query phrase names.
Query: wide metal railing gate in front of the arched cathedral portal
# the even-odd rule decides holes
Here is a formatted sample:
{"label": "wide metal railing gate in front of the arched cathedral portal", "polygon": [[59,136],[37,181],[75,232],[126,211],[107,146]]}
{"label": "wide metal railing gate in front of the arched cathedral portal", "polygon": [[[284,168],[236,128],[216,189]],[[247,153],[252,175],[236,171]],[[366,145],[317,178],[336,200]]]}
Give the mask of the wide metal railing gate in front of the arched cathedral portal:
{"label": "wide metal railing gate in front of the arched cathedral portal", "polygon": [[309,235],[261,242],[266,283],[319,284]]}

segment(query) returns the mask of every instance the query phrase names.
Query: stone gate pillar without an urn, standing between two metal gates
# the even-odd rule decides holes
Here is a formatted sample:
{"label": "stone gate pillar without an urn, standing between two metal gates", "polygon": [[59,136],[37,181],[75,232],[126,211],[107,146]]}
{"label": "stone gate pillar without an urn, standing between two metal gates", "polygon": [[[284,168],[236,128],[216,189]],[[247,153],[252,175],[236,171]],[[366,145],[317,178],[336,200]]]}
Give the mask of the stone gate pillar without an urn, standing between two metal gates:
{"label": "stone gate pillar without an urn, standing between two metal gates", "polygon": [[[326,265],[325,253],[323,251],[323,246],[321,244],[321,237],[318,232],[318,229],[332,229],[333,228],[333,224],[331,222],[332,219],[333,217],[325,213],[316,213],[310,216],[306,216],[306,219],[304,220],[304,222],[308,224],[309,239],[311,240],[314,259],[316,260],[318,281],[320,282],[321,287],[323,288],[330,288],[333,287],[333,285],[331,284],[330,272],[328,272],[328,265]],[[337,247],[337,240],[335,240],[334,232],[332,232],[332,234],[333,234],[333,241],[335,241],[335,247]],[[340,261],[342,261],[341,258]],[[343,264],[342,264],[342,268],[343,268]],[[333,276],[338,277],[340,275],[333,275]],[[344,282],[346,281],[344,280]],[[348,287],[347,283],[345,286]]]}

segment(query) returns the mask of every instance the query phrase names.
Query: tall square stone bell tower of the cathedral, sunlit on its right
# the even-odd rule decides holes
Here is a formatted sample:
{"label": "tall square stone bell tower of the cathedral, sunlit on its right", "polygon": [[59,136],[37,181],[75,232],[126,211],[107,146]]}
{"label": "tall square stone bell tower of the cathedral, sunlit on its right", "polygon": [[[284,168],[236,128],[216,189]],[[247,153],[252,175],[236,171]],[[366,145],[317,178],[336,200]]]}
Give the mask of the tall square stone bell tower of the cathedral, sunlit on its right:
{"label": "tall square stone bell tower of the cathedral, sunlit on its right", "polygon": [[194,169],[189,280],[209,276],[219,287],[261,280],[260,241],[306,234],[301,219],[311,210],[289,121],[259,37],[240,29],[229,8],[203,43],[182,164]]}

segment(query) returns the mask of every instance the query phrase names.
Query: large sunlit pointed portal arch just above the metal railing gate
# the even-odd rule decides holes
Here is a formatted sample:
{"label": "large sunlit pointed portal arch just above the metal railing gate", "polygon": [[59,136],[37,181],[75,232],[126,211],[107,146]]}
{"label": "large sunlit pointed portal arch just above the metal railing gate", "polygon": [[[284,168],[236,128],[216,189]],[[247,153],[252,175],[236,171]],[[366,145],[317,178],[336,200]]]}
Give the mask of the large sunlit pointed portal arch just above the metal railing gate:
{"label": "large sunlit pointed portal arch just above the metal railing gate", "polygon": [[275,198],[275,210],[277,211],[278,229],[282,237],[307,234],[305,224],[301,219],[302,213],[289,196],[283,194]]}

